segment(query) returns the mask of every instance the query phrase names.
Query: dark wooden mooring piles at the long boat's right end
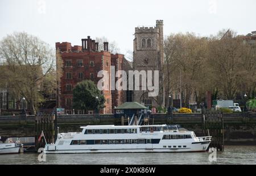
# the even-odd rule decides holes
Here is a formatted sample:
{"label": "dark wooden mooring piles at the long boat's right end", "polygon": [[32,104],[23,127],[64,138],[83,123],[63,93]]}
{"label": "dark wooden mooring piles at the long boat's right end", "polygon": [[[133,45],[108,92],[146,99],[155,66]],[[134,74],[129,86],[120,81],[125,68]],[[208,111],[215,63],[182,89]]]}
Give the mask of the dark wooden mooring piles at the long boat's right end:
{"label": "dark wooden mooring piles at the long boat's right end", "polygon": [[220,111],[203,110],[201,127],[205,136],[212,136],[209,148],[224,151],[224,118]]}

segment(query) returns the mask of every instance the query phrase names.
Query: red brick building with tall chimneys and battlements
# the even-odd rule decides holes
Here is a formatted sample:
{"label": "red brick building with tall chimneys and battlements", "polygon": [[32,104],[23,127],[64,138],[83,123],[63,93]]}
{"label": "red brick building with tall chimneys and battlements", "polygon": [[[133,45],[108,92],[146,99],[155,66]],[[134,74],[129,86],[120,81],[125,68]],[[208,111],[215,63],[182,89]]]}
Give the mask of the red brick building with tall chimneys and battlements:
{"label": "red brick building with tall chimneys and battlements", "polygon": [[[101,77],[97,77],[100,70],[106,70],[111,73],[111,65],[115,65],[115,70],[123,69],[123,55],[113,55],[108,50],[108,42],[104,43],[104,51],[98,51],[98,43],[95,40],[82,39],[82,46],[73,46],[71,43],[63,42],[56,43],[56,49],[60,50],[61,58],[63,59],[63,76],[60,81],[60,106],[65,108],[66,113],[72,114],[72,89],[78,82],[85,79],[90,79],[97,82]],[[111,75],[109,75],[111,78]],[[116,78],[117,79],[117,78]],[[109,79],[109,85],[111,80]],[[105,108],[101,111],[102,114],[111,114],[114,106],[123,103],[124,91],[102,91],[105,97]],[[75,110],[81,114],[81,110]]]}

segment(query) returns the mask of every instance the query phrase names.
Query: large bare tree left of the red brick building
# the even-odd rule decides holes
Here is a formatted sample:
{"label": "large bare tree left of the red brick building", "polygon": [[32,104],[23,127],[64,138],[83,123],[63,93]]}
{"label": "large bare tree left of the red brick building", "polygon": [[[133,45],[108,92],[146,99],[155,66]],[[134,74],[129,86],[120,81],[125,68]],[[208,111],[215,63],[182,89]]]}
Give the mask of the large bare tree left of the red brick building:
{"label": "large bare tree left of the red brick building", "polygon": [[42,83],[46,79],[49,81],[55,72],[53,49],[38,37],[15,32],[1,40],[0,57],[6,69],[2,76],[6,87],[17,98],[25,97],[28,109],[34,114],[38,104],[43,101],[39,93]]}

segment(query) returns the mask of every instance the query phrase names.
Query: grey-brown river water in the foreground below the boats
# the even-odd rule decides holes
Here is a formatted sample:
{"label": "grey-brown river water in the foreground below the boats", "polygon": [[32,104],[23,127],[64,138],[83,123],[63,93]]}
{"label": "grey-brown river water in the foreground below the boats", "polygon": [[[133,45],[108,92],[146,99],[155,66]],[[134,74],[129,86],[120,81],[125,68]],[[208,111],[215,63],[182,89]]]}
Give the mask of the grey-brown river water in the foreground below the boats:
{"label": "grey-brown river water in the foreground below the boats", "polygon": [[256,146],[225,146],[225,151],[217,152],[216,157],[209,155],[208,152],[47,154],[46,161],[40,162],[38,153],[23,153],[0,155],[0,164],[256,164]]}

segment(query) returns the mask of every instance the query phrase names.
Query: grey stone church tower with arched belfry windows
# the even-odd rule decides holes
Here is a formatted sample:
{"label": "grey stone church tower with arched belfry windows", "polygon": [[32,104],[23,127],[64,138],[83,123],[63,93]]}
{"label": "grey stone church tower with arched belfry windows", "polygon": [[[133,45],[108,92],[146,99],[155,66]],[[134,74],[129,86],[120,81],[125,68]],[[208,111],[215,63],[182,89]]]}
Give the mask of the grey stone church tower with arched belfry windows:
{"label": "grey stone church tower with arched belfry windows", "polygon": [[[147,90],[134,90],[133,100],[144,106],[164,106],[163,86],[163,20],[156,20],[155,27],[136,27],[133,52],[133,70],[159,70],[159,94],[148,97]],[[154,76],[153,76],[154,80]],[[140,79],[140,87],[141,87]]]}

